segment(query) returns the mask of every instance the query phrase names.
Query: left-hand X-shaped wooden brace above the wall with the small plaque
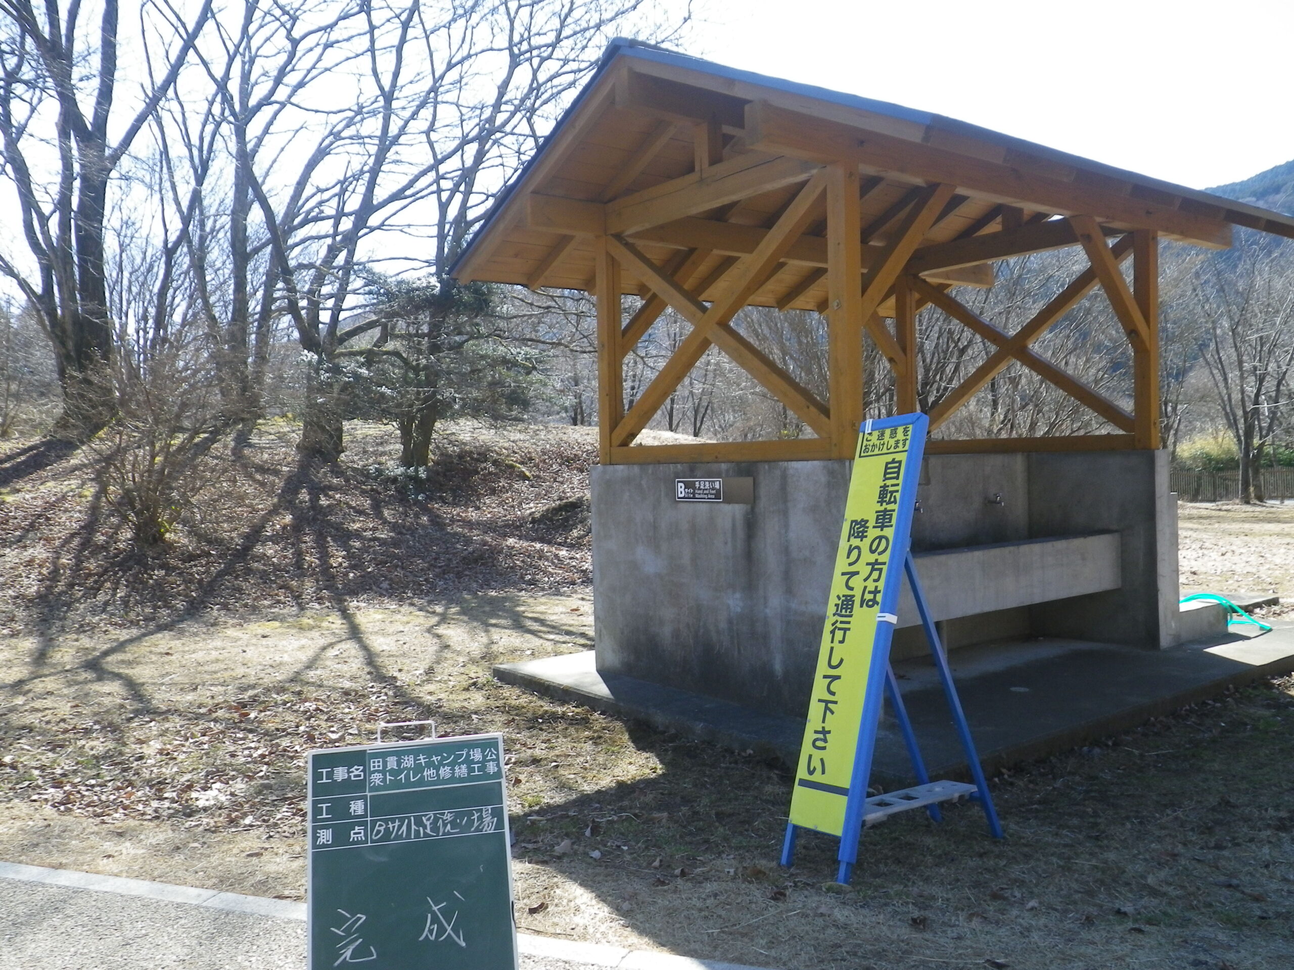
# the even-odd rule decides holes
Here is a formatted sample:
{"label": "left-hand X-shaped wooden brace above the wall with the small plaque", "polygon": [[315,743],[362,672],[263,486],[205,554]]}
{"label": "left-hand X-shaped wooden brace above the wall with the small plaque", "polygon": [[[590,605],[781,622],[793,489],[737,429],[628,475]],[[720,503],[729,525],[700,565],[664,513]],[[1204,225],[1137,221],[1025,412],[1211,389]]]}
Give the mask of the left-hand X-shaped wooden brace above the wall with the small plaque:
{"label": "left-hand X-shaped wooden brace above the wall with the small plaque", "polygon": [[692,332],[683,339],[634,406],[616,426],[612,432],[612,446],[630,444],[647,427],[647,422],[669,400],[669,396],[696,366],[710,344],[723,350],[760,384],[773,392],[815,435],[819,437],[829,436],[831,419],[827,407],[795,378],[774,363],[767,354],[730,326],[736,312],[767,279],[773,266],[782,260],[792,243],[818,217],[826,185],[826,176],[822,172],[810,177],[807,185],[800,190],[800,194],[763,237],[756,251],[734,266],[734,278],[727,291],[709,307],[705,307],[675,278],[647,259],[633,243],[619,235],[607,237],[607,247],[620,260],[620,264],[633,270],[661,300],[692,325]]}

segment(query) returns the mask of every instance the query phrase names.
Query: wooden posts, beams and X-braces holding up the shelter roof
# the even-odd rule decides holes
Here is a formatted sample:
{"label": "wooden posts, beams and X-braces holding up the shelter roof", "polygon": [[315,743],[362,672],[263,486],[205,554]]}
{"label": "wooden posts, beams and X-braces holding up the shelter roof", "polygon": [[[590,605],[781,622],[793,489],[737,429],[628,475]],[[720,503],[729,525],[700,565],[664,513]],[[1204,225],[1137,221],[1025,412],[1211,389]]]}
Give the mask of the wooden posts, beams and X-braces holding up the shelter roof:
{"label": "wooden posts, beams and X-braces holding up the shelter roof", "polygon": [[[598,295],[598,353],[599,353],[599,407],[602,418],[600,450],[606,463],[639,462],[717,462],[717,460],[775,460],[796,458],[846,458],[851,454],[858,427],[862,422],[862,335],[876,344],[889,361],[897,385],[899,411],[917,409],[916,372],[916,313],[924,305],[933,305],[959,321],[994,345],[992,354],[959,387],[943,397],[930,410],[930,428],[949,420],[969,398],[1011,363],[1021,363],[1075,398],[1118,429],[1113,435],[1084,435],[1053,438],[1000,438],[982,441],[933,441],[932,450],[947,451],[1008,451],[1008,450],[1091,450],[1159,446],[1158,387],[1157,387],[1157,312],[1156,312],[1156,233],[1135,230],[1122,234],[1113,247],[1106,244],[1108,229],[1093,216],[1071,216],[1068,220],[1035,221],[1013,229],[999,229],[985,235],[972,235],[942,247],[929,246],[919,252],[919,246],[930,226],[946,213],[956,199],[952,185],[937,182],[915,189],[902,198],[903,204],[893,213],[881,213],[875,221],[893,224],[888,241],[872,247],[864,256],[867,234],[861,219],[861,200],[866,186],[858,168],[848,163],[820,167],[779,166],[756,180],[748,173],[752,167],[740,159],[743,167],[730,167],[709,178],[690,182],[683,199],[672,193],[657,193],[651,199],[637,199],[631,206],[616,210],[615,224],[622,232],[602,232],[595,235],[598,246],[597,278],[593,286]],[[756,167],[762,168],[763,166]],[[798,178],[797,191],[776,221],[766,230],[753,229],[740,233],[714,232],[716,226],[730,224],[717,221],[714,226],[701,226],[695,235],[686,237],[687,226],[678,220],[691,217],[700,207],[714,208],[740,203],[727,186],[705,195],[699,186],[722,185],[729,172],[740,172],[747,178],[744,191],[766,190],[769,181],[783,184],[791,172]],[[717,175],[717,177],[716,177]],[[780,186],[779,186],[780,188]],[[657,215],[646,215],[647,203],[653,203]],[[546,203],[541,203],[546,204]],[[1017,210],[1018,211],[1018,210]],[[679,215],[688,212],[688,215]],[[630,213],[630,215],[625,215]],[[644,220],[665,219],[669,232],[650,232],[655,225]],[[817,237],[806,232],[826,219],[826,237],[822,251]],[[611,222],[609,211],[607,221]],[[701,222],[703,220],[695,220]],[[1003,220],[999,213],[999,222]],[[985,226],[981,226],[981,230]],[[688,242],[712,243],[679,250],[675,257],[657,264],[629,237],[661,242],[675,237]],[[727,234],[725,234],[727,233]],[[1002,239],[996,237],[1011,237]],[[571,237],[572,239],[575,237]],[[851,242],[857,241],[857,242]],[[1090,268],[1043,307],[1014,334],[1007,334],[983,319],[951,296],[950,283],[933,283],[920,275],[920,270],[949,269],[950,260],[1003,257],[1014,255],[1021,246],[1036,252],[1071,242],[1080,244],[1088,255]],[[569,243],[562,243],[568,246]],[[782,297],[791,303],[798,292],[807,290],[822,277],[827,278],[827,299],[822,309],[828,321],[829,402],[819,401],[801,387],[749,339],[732,329],[738,310],[747,305],[751,295],[779,272],[788,255],[813,247],[813,259],[824,263],[801,279]],[[694,274],[713,252],[740,252],[719,263],[716,272],[700,282]],[[1130,256],[1134,260],[1134,287],[1130,288],[1119,269]],[[866,260],[866,265],[864,265]],[[621,319],[620,294],[622,273],[629,270],[644,282],[648,294],[633,317]],[[717,288],[719,294],[708,304],[703,297]],[[1130,413],[1093,388],[1065,372],[1030,349],[1052,325],[1060,321],[1083,296],[1093,288],[1102,288],[1115,316],[1127,331],[1134,353],[1134,379],[1136,409]],[[1135,292],[1134,292],[1135,290]],[[643,338],[651,323],[665,308],[691,323],[688,336],[674,350],[633,406],[625,411],[622,367],[625,357]],[[883,308],[894,321],[893,330],[881,317]],[[634,446],[634,438],[647,427],[652,416],[664,406],[679,383],[696,366],[701,356],[717,347],[754,380],[796,414],[815,437],[778,441],[705,442],[669,446]],[[1137,415],[1141,415],[1139,419]]]}

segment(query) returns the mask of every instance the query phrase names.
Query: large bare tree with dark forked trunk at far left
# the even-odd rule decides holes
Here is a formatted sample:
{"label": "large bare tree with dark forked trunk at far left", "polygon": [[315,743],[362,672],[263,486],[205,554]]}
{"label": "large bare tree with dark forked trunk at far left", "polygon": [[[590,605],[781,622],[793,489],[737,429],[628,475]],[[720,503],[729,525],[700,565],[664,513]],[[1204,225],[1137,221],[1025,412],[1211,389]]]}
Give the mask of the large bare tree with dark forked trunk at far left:
{"label": "large bare tree with dark forked trunk at far left", "polygon": [[132,50],[149,52],[162,69],[118,118],[119,0],[102,0],[97,23],[76,0],[66,8],[45,0],[39,10],[31,0],[0,0],[0,159],[28,250],[27,257],[0,255],[0,273],[21,288],[53,344],[61,436],[85,437],[115,413],[109,190],[211,9],[210,0],[188,17],[171,6],[140,9]]}

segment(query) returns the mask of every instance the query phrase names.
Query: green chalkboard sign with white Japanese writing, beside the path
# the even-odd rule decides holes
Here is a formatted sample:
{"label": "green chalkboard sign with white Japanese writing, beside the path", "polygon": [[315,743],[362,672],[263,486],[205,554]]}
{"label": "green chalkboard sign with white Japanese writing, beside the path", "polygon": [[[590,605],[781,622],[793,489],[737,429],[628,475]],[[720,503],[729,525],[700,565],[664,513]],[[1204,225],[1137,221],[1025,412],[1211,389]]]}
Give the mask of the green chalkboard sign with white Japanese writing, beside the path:
{"label": "green chalkboard sign with white Japanese writing, beside the path", "polygon": [[503,736],[309,753],[309,969],[516,970]]}

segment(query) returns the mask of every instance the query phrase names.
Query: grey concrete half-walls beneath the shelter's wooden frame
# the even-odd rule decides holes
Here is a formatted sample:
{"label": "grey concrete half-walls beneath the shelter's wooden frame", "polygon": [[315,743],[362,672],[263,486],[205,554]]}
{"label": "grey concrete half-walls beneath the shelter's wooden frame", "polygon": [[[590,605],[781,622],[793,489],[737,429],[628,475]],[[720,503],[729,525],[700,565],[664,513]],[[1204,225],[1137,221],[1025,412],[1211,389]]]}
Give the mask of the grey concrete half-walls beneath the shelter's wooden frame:
{"label": "grey concrete half-walls beneath the shelter's wooden frame", "polygon": [[[802,714],[848,475],[848,462],[594,468],[598,669]],[[754,479],[752,504],[673,498],[674,479],[745,476]],[[950,644],[1011,632],[1149,647],[1175,641],[1176,506],[1166,476],[1166,457],[1152,453],[928,458],[912,525],[919,554],[1091,533],[1118,537],[1114,552],[1106,537],[1082,546],[1083,552],[1074,551],[1071,569],[1062,561],[1048,565],[1055,576],[1069,577],[1057,579],[1061,588],[1101,590],[1112,585],[1101,577],[1108,578],[1112,556],[1117,556],[1115,590],[1036,607],[1012,605],[1040,595],[1034,590],[1012,599],[1011,590],[999,588],[1025,585],[1018,569],[1033,568],[1030,556],[1040,554],[1029,546],[1012,554],[1018,559],[1016,569],[1003,565],[1009,564],[1003,552],[977,554],[998,563],[974,577],[982,596],[970,583],[943,590],[928,581],[932,598],[983,600],[986,612],[978,617],[943,623]],[[914,632],[898,631],[895,652],[912,652],[919,644],[907,643]]]}

